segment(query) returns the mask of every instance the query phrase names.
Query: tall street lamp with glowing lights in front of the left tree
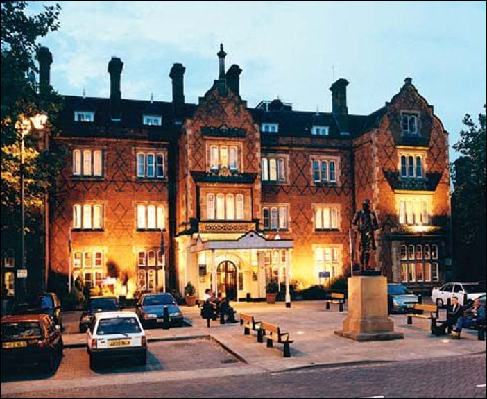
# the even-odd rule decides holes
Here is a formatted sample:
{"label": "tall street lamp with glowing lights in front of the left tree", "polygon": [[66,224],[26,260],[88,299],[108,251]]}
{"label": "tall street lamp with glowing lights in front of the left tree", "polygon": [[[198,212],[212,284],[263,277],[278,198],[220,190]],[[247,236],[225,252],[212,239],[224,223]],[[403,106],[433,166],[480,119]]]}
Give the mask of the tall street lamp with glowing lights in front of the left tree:
{"label": "tall street lamp with glowing lights in front of the left tree", "polygon": [[[25,137],[31,130],[42,130],[46,124],[47,115],[46,114],[36,114],[33,117],[26,118],[22,117],[15,127],[20,130],[20,219],[21,219],[21,235],[20,235],[20,270],[26,270],[26,212],[25,212],[25,187],[24,187],[24,151],[25,151]],[[19,292],[19,296],[22,299],[26,298],[27,285],[26,285],[26,272],[20,274],[22,278],[22,285]]]}

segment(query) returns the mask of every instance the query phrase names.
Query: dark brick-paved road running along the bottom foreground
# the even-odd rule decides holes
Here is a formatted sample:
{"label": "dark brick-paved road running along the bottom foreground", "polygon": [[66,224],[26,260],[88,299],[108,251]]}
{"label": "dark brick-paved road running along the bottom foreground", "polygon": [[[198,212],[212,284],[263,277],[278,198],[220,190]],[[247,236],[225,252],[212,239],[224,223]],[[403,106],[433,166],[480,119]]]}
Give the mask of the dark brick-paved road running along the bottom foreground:
{"label": "dark brick-paved road running along the bottom foreground", "polygon": [[12,396],[2,389],[1,398],[486,398],[486,354],[171,382],[128,375],[123,384],[45,389]]}

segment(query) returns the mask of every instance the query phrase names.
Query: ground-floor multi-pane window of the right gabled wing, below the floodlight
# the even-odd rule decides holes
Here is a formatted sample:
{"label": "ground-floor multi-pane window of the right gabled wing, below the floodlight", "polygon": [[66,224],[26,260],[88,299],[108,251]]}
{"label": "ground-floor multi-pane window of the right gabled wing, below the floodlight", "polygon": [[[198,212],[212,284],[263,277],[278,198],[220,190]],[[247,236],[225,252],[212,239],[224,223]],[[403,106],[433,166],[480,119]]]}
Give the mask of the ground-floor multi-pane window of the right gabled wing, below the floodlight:
{"label": "ground-floor multi-pane window of the right gabled wing, below the floodlight", "polygon": [[431,263],[429,260],[432,247],[435,248],[437,259],[437,244],[402,244],[400,246],[400,259],[403,261],[401,263],[403,282],[438,281],[438,263]]}

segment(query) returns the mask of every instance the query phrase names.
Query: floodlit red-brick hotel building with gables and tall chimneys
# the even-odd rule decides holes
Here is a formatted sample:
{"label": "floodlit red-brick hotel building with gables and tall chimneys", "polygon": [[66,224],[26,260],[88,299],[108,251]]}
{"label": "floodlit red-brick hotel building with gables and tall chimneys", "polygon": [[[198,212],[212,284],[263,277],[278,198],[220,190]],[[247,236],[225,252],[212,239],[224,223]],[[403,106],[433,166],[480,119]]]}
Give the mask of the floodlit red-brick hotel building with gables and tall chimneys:
{"label": "floodlit red-brick hotel building with gables and tall chimneys", "polygon": [[[41,87],[52,62],[42,53]],[[110,98],[63,97],[50,139],[68,151],[49,210],[46,278],[117,280],[129,292],[183,291],[190,281],[199,295],[213,287],[264,298],[271,280],[308,287],[325,282],[321,271],[348,273],[351,220],[370,198],[382,226],[373,264],[410,287],[444,280],[448,135],[411,78],[366,115],[348,113],[343,78],[330,87],[332,112],[279,99],[252,108],[225,56],[221,46],[218,79],[197,104],[185,102],[181,64],[169,74],[172,101],[123,99],[115,57]]]}

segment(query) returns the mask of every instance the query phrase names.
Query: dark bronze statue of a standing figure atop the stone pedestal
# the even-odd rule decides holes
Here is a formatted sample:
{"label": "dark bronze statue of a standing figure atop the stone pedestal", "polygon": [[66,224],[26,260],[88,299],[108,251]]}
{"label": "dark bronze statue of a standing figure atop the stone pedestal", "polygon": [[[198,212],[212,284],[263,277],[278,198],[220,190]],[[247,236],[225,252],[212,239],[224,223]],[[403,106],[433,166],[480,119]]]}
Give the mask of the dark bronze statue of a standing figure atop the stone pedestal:
{"label": "dark bronze statue of a standing figure atop the stone pedestal", "polygon": [[362,204],[362,209],[359,210],[352,221],[354,230],[360,233],[360,265],[362,270],[368,270],[368,262],[370,254],[375,251],[375,230],[379,230],[379,223],[377,223],[377,216],[375,212],[370,210],[370,200],[365,199]]}

